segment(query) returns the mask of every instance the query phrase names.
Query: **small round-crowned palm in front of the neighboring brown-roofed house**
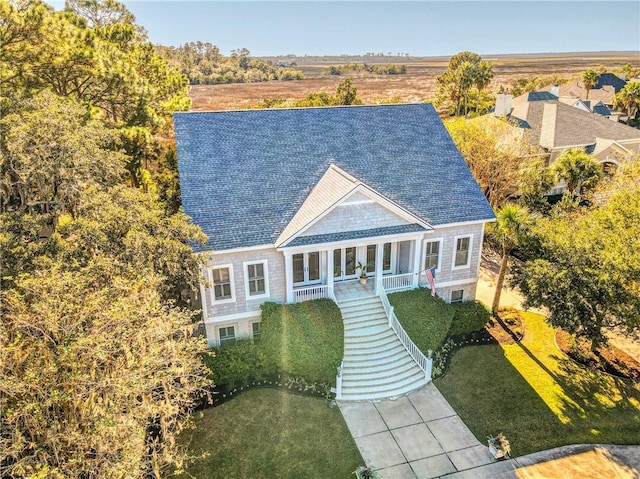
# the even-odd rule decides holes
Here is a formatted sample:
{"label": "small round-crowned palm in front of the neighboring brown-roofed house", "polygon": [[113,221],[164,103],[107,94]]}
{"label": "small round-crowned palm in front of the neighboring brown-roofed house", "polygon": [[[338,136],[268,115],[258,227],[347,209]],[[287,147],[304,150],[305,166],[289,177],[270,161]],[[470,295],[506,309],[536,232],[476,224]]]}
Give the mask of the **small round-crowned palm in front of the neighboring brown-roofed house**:
{"label": "small round-crowned palm in front of the neighboring brown-roofed house", "polygon": [[567,193],[578,197],[593,189],[602,176],[600,165],[582,148],[570,148],[562,153],[553,171],[558,181],[567,183]]}

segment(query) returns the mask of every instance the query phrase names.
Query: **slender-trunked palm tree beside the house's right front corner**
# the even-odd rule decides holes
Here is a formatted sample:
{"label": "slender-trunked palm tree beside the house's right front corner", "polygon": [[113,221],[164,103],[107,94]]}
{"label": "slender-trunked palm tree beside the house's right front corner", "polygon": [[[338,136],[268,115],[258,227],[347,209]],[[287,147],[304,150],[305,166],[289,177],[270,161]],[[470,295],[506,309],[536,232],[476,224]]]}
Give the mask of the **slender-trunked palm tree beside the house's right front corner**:
{"label": "slender-trunked palm tree beside the house's right front corner", "polygon": [[500,263],[500,272],[498,273],[496,292],[493,296],[493,305],[491,306],[491,311],[494,315],[498,314],[500,295],[509,264],[509,254],[513,248],[523,241],[527,230],[533,225],[534,221],[534,215],[526,207],[516,204],[506,204],[496,214],[496,223],[493,228],[502,245],[502,261]]}

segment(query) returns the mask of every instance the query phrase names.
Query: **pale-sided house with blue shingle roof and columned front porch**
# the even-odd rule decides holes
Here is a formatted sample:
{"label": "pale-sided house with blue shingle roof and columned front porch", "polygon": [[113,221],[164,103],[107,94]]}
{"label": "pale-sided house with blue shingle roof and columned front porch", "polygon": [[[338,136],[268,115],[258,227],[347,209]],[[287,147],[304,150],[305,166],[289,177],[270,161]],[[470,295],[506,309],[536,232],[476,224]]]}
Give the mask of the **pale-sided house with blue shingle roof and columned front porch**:
{"label": "pale-sided house with blue shingle roof and columned front porch", "polygon": [[210,344],[259,334],[260,305],[334,299],[368,265],[377,289],[436,267],[475,298],[494,214],[430,104],[176,113],[182,203],[209,237]]}

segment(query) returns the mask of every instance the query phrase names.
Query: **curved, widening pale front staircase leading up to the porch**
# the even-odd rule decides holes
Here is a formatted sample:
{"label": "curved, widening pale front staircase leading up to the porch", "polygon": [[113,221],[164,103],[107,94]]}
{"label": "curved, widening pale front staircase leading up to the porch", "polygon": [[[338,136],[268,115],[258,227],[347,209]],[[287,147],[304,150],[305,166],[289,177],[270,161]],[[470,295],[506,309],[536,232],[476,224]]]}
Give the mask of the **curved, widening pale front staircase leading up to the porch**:
{"label": "curved, widening pale front staircase leading up to the porch", "polygon": [[427,384],[387,323],[378,296],[338,303],[344,321],[343,401],[391,399]]}

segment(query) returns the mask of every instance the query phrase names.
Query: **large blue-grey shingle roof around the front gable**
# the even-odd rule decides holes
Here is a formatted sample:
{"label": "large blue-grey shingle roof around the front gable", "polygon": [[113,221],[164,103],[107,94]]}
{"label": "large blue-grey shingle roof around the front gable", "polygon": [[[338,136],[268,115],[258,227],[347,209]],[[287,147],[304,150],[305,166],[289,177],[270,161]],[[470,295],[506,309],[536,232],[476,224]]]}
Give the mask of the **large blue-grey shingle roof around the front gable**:
{"label": "large blue-grey shingle roof around the front gable", "polygon": [[200,250],[274,244],[331,163],[433,226],[494,218],[430,104],[174,115]]}

